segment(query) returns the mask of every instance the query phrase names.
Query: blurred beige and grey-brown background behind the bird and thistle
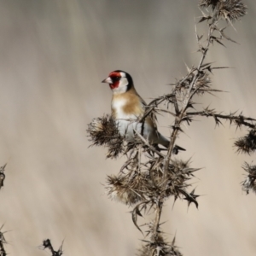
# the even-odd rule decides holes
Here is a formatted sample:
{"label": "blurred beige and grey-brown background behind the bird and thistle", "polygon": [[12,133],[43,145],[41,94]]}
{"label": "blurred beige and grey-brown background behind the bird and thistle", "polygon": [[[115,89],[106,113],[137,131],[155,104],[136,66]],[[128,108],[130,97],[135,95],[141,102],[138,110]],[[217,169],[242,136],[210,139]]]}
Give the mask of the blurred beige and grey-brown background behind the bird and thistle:
{"label": "blurred beige and grey-brown background behind the bird and thistle", "polygon": [[[214,44],[207,61],[218,70],[213,87],[227,92],[199,97],[198,108],[255,113],[256,6],[226,34],[239,44]],[[131,208],[110,201],[103,183],[125,159],[106,160],[104,148],[89,148],[91,119],[110,113],[112,93],[102,84],[111,71],[131,73],[149,102],[170,91],[186,65],[198,64],[197,1],[186,0],[1,0],[0,225],[10,255],[47,255],[46,238],[65,255],[135,255],[143,236]],[[207,33],[204,25],[198,30]],[[238,112],[239,113],[239,112]],[[170,116],[160,131],[170,135]],[[199,209],[166,201],[163,221],[184,255],[256,253],[256,195],[241,191],[244,160],[233,143],[245,131],[197,118],[178,144],[179,158],[201,167],[193,181]],[[192,188],[191,188],[192,189]],[[141,219],[143,224],[143,219]]]}

